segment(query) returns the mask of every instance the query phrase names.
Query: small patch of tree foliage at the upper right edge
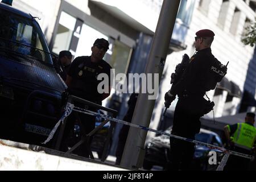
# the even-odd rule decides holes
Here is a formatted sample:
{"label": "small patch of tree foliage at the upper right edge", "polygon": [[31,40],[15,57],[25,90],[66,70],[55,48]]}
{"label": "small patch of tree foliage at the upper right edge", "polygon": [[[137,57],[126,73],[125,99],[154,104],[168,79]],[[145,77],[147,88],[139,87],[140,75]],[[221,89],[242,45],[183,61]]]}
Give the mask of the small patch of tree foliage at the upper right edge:
{"label": "small patch of tree foliage at the upper right edge", "polygon": [[245,34],[242,35],[242,43],[253,47],[256,43],[256,22],[250,22],[245,28]]}

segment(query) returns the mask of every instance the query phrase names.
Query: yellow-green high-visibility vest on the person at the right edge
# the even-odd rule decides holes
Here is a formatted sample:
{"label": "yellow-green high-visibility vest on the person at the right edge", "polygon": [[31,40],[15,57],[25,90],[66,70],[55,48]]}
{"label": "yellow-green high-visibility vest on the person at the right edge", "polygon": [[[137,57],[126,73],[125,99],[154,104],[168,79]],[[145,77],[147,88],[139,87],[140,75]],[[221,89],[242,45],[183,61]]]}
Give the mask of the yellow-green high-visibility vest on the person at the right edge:
{"label": "yellow-green high-visibility vest on the person at the right edge", "polygon": [[230,138],[235,146],[251,150],[256,140],[256,128],[247,123],[237,123],[237,130]]}

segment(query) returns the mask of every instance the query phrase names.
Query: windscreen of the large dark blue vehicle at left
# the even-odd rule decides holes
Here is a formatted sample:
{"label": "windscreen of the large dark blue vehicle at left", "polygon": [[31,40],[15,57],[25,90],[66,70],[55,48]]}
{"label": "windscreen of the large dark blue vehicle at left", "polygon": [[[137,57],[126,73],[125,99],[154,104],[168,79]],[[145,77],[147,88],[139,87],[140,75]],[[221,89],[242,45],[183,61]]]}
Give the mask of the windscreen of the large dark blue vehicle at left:
{"label": "windscreen of the large dark blue vehicle at left", "polygon": [[44,35],[35,20],[0,9],[0,47],[52,64]]}

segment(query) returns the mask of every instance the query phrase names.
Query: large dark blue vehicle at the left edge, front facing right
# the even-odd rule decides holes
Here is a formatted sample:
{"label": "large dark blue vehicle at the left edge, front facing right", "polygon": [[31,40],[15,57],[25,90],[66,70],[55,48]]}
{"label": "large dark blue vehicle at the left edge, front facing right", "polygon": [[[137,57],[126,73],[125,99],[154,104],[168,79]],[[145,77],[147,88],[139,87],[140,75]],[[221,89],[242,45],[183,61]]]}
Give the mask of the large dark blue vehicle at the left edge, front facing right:
{"label": "large dark blue vehicle at the left edge, front facing right", "polygon": [[35,17],[4,3],[0,17],[0,138],[40,144],[60,119],[67,86]]}

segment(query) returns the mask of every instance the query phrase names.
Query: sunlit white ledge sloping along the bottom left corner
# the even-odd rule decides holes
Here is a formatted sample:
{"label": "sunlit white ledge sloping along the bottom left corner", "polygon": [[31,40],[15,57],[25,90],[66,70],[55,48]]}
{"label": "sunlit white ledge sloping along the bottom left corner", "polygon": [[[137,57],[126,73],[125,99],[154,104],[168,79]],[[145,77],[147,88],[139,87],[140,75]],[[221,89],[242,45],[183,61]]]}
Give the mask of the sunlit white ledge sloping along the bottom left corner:
{"label": "sunlit white ledge sloping along the bottom left corner", "polygon": [[[0,171],[127,171],[115,166],[115,157],[105,163],[65,154],[40,146],[0,139]],[[93,154],[94,155],[94,154]]]}

